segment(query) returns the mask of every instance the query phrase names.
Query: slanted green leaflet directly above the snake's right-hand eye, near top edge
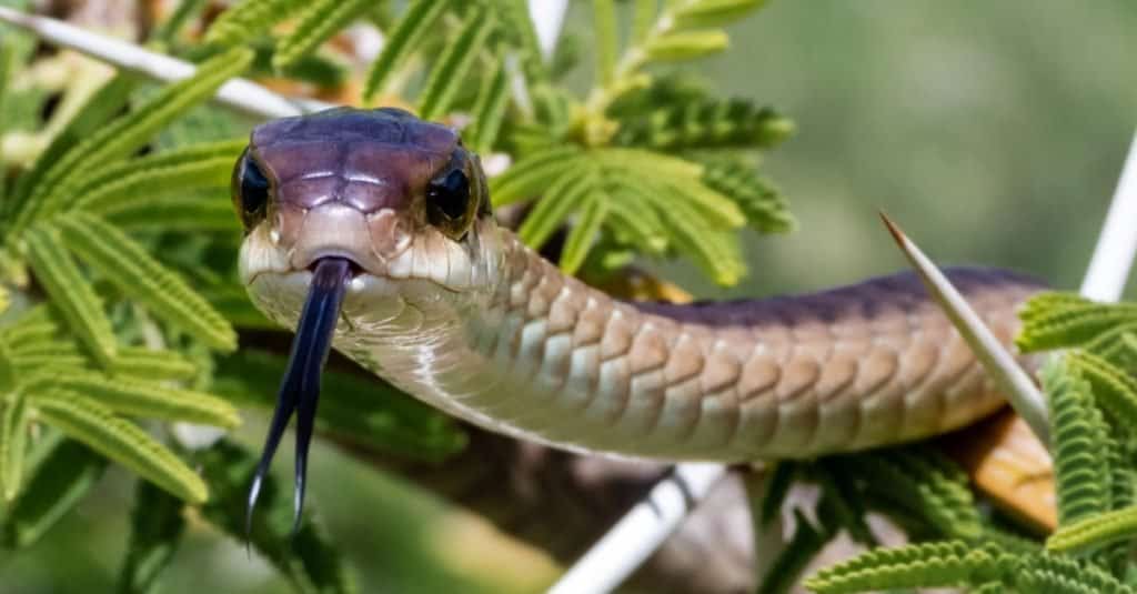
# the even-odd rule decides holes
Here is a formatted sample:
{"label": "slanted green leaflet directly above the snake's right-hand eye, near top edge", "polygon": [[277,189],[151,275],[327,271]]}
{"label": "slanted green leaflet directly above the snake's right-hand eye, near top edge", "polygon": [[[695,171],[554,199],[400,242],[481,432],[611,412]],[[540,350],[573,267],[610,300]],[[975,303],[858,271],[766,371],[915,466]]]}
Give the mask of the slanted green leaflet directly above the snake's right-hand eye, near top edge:
{"label": "slanted green leaflet directly above the snake's right-hand eye, near top edge", "polygon": [[423,119],[438,119],[450,108],[455,93],[470,79],[474,60],[485,46],[496,22],[481,7],[470,11],[458,36],[446,46],[431,67],[430,77],[418,98],[418,112]]}

